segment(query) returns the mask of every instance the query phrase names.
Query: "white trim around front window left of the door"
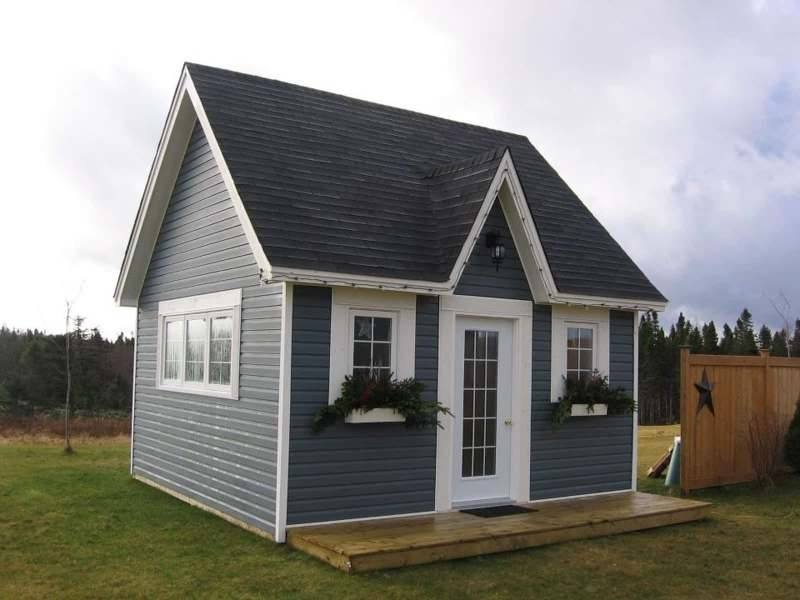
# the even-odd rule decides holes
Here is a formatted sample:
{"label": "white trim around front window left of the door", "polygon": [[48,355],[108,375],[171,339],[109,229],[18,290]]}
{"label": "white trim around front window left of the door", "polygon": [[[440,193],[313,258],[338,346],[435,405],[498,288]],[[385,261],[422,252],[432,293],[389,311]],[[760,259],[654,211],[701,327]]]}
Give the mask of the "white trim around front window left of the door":
{"label": "white trim around front window left of the door", "polygon": [[392,319],[392,372],[414,377],[417,297],[402,292],[360,288],[332,289],[331,352],[328,402],[339,397],[345,375],[353,372],[353,323],[356,316]]}

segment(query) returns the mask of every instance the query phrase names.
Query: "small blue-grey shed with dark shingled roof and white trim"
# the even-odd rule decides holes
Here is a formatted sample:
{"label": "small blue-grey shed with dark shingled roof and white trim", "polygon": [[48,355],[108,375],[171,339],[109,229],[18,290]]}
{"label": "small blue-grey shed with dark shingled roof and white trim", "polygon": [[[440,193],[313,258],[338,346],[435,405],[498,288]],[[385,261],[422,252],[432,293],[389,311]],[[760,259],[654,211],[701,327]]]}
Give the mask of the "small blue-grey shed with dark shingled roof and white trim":
{"label": "small blue-grey shed with dark shingled roof and white trim", "polygon": [[[635,488],[636,415],[552,403],[595,370],[635,397],[666,300],[524,136],[187,64],[115,297],[131,473],[275,541]],[[312,432],[381,370],[453,416]]]}

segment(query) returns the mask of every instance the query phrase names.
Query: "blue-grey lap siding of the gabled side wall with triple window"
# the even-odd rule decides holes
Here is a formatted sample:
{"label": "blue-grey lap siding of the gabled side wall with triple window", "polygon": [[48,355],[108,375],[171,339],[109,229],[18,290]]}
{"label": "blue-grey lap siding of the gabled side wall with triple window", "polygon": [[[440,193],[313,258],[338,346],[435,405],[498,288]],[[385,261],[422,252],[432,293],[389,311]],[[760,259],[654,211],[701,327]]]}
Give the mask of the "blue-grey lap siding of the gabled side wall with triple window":
{"label": "blue-grey lap siding of the gabled side wall with triple window", "polygon": [[[156,387],[158,303],[242,290],[239,399]],[[281,285],[261,285],[199,126],[189,141],[139,299],[133,473],[272,534]]]}

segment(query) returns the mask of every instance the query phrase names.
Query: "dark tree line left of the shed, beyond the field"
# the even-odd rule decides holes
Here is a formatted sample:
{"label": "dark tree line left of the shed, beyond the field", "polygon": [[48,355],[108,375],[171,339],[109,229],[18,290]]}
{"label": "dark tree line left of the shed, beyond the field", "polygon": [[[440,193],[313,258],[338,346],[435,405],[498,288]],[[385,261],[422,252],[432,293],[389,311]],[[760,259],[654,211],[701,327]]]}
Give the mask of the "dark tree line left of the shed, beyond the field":
{"label": "dark tree line left of the shed, beyond the field", "polygon": [[[0,327],[0,414],[63,409],[65,342],[65,334]],[[74,411],[130,412],[133,338],[120,333],[112,342],[76,319],[70,332],[70,371]]]}

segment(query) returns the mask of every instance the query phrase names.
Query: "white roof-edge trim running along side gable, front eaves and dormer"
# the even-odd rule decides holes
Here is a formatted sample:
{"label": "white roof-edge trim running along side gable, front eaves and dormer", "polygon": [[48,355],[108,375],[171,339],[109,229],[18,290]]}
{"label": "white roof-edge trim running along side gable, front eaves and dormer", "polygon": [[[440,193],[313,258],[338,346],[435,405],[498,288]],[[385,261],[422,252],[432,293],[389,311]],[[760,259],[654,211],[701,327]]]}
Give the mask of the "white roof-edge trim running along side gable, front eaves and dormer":
{"label": "white roof-edge trim running along side gable, front eaves and dormer", "polygon": [[[506,148],[503,152],[503,157],[484,197],[481,209],[462,244],[447,281],[406,280],[271,265],[239,196],[230,169],[203,107],[202,100],[186,66],[182,70],[166,124],[162,131],[117,280],[114,297],[121,306],[136,305],[138,294],[144,282],[147,265],[152,256],[155,240],[164,218],[166,205],[174,187],[175,178],[177,177],[195,120],[199,121],[203,128],[250,244],[253,256],[266,282],[288,281],[333,286],[394,289],[422,294],[452,294],[458,285],[469,256],[478,242],[489,211],[495,199],[498,199],[503,206],[503,211],[511,227],[514,242],[517,248],[523,249],[525,274],[531,284],[531,290],[537,302],[604,306],[630,310],[663,311],[666,308],[666,302],[655,300],[631,300],[559,292],[509,148]],[[522,240],[520,239],[523,235],[525,237],[524,244],[521,243]]]}

